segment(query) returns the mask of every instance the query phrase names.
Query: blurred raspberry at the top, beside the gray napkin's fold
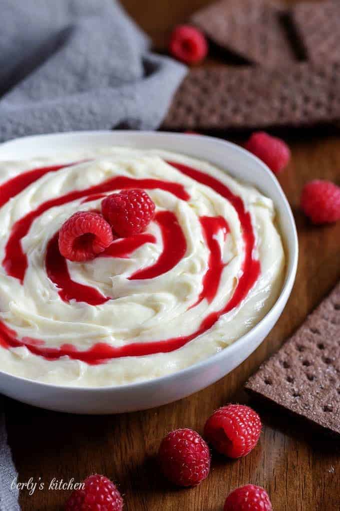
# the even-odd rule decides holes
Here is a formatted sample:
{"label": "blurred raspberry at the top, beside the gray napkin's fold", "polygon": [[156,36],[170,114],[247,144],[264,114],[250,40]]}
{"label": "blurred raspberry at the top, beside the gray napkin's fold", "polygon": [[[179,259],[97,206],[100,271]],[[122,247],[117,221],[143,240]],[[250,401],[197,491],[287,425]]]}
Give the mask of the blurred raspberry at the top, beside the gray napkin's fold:
{"label": "blurred raspberry at the top, beside the gray napkin's fold", "polygon": [[208,45],[202,32],[190,25],[178,25],[170,36],[170,54],[187,64],[197,64],[208,53]]}

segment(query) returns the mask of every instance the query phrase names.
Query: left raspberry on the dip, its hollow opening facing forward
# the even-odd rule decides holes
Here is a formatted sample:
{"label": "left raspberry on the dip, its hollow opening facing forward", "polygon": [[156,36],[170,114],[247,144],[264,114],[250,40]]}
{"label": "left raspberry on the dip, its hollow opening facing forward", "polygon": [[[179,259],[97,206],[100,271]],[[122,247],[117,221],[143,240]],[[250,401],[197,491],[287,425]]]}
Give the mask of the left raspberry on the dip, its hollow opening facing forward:
{"label": "left raspberry on the dip, its hollow opening facing forward", "polygon": [[100,213],[91,211],[74,213],[59,231],[60,253],[70,261],[89,261],[112,241],[108,222]]}

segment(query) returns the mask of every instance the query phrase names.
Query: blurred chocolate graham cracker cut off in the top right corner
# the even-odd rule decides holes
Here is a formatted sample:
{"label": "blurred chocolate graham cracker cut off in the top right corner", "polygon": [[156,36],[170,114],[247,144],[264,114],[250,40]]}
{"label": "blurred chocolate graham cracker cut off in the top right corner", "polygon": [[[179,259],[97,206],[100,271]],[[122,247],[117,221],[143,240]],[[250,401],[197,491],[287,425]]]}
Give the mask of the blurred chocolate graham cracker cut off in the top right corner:
{"label": "blurred chocolate graham cracker cut off in the top right corner", "polygon": [[299,3],[292,18],[309,60],[340,60],[339,0]]}

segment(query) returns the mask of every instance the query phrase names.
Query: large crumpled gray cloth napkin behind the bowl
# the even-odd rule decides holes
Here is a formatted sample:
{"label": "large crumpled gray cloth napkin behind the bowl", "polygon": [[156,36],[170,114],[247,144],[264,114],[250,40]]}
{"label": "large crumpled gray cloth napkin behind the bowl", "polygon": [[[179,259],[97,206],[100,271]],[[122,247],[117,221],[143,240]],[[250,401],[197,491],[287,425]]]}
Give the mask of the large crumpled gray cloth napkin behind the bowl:
{"label": "large crumpled gray cloth napkin behind the bowl", "polygon": [[186,73],[115,0],[0,0],[0,141],[157,128]]}

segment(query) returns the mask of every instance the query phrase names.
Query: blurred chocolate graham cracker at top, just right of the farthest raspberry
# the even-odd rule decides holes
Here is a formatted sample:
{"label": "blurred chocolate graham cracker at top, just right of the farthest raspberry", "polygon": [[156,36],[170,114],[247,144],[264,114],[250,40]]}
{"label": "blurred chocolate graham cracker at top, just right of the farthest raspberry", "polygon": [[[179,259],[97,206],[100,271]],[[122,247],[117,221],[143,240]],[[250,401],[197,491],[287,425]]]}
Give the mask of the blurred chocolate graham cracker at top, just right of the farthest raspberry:
{"label": "blurred chocolate graham cracker at top, just right of the farthest raspberry", "polygon": [[220,47],[249,62],[277,66],[296,60],[280,4],[266,0],[221,0],[190,21]]}

